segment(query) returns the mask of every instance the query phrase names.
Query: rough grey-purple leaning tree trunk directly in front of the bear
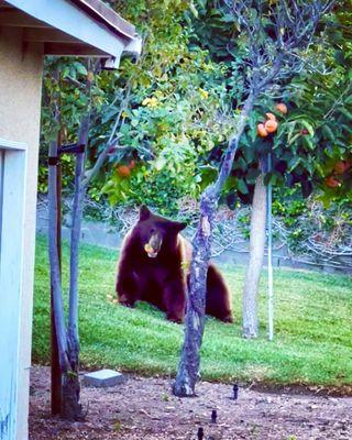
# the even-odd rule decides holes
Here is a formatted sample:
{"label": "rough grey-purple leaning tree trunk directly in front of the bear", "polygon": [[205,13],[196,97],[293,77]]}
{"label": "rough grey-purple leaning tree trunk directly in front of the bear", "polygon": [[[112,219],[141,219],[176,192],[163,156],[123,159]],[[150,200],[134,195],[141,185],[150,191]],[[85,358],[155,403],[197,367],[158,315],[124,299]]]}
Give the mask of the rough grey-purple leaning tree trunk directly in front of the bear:
{"label": "rough grey-purple leaning tree trunk directly in front of the bear", "polygon": [[189,292],[187,295],[185,340],[173,387],[174,394],[179,397],[194,396],[196,383],[200,376],[199,350],[205,329],[207,272],[210,260],[213,218],[222,186],[232,169],[240,138],[246,127],[249,114],[252,111],[254,98],[254,95],[251,92],[243,106],[237,132],[229,141],[217,182],[206,188],[200,198],[200,219],[196,237],[193,241],[194,250],[190,264]]}

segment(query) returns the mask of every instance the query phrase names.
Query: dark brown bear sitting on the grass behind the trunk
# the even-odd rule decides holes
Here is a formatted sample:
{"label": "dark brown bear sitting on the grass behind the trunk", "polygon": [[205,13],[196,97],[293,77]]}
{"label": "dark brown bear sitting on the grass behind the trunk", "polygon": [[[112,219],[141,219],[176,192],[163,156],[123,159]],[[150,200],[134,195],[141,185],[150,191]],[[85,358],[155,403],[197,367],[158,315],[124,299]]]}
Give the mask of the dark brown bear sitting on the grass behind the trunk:
{"label": "dark brown bear sitting on the grass behind the trunk", "polygon": [[[142,206],[140,219],[127,234],[118,267],[117,293],[120,304],[133,307],[147,301],[164,310],[167,319],[185,317],[187,268],[191,244],[179,232],[186,223],[156,216]],[[210,263],[207,276],[206,314],[233,322],[226,282]]]}

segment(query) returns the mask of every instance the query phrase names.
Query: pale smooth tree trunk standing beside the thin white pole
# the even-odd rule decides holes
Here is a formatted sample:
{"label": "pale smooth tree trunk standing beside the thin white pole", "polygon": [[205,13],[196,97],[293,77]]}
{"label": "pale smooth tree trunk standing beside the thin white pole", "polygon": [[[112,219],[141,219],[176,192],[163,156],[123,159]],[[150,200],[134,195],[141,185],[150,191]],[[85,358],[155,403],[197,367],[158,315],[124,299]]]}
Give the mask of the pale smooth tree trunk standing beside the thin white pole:
{"label": "pale smooth tree trunk standing beside the thin white pole", "polygon": [[243,337],[256,338],[257,320],[257,288],[261,278],[266,224],[266,186],[264,174],[255,183],[251,216],[250,261],[243,288]]}

